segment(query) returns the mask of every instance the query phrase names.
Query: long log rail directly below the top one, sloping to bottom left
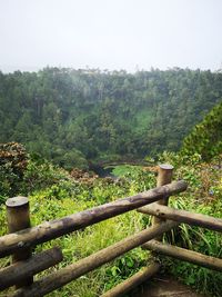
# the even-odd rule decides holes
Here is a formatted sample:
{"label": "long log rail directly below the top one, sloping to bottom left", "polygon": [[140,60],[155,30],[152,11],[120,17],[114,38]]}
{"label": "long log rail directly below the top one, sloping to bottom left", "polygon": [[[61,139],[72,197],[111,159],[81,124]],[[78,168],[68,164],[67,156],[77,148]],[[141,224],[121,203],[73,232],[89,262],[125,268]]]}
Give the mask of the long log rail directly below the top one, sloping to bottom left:
{"label": "long log rail directly below the top one, sloping to bottom left", "polygon": [[78,277],[100,267],[101,265],[113,260],[124,253],[144,244],[145,241],[170,230],[178,226],[178,222],[165,221],[160,226],[153,226],[149,229],[142,230],[132,235],[108,248],[104,248],[78,263],[71,264],[50,276],[36,281],[29,288],[19,289],[13,297],[39,297],[46,295],[65,284],[77,279]]}

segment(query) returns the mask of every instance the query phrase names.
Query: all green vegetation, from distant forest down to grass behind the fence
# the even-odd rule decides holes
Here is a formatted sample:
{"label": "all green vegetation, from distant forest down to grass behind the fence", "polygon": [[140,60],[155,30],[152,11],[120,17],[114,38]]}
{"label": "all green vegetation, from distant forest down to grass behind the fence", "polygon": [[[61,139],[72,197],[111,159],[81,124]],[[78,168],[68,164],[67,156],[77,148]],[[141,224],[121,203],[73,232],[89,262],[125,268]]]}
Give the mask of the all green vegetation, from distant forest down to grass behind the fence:
{"label": "all green vegetation, from distant forest down to grass behind the fence", "polygon": [[[220,71],[0,72],[0,236],[8,232],[4,204],[10,197],[29,197],[31,226],[38,226],[154,188],[158,164],[171,164],[173,180],[189,185],[170,197],[170,207],[222,217]],[[91,165],[112,162],[114,178],[90,170]],[[36,279],[150,225],[150,216],[133,210],[38,245],[32,253],[59,246],[63,261]],[[209,229],[180,224],[163,240],[222,256],[221,234]],[[101,296],[152,260],[151,253],[132,249],[48,296]],[[194,290],[222,296],[221,273],[168,257],[155,260],[163,273]],[[9,264],[10,257],[0,259],[0,268]],[[13,291],[11,287],[0,296]]]}

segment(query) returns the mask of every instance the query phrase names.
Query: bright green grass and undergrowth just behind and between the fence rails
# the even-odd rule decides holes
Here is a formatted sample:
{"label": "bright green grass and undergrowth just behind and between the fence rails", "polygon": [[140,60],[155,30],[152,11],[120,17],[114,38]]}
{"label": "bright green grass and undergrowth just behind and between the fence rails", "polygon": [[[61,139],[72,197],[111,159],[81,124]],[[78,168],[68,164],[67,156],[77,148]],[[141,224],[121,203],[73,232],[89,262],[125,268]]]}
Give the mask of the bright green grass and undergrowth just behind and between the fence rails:
{"label": "bright green grass and undergrowth just behind and between the fence rails", "polygon": [[[183,178],[189,184],[185,192],[170,198],[172,207],[222,217],[222,177],[216,164],[203,164],[200,156],[181,160],[173,154],[163,154],[160,161],[171,162],[175,168],[174,179]],[[121,171],[120,168],[118,170]],[[128,167],[128,170],[124,167],[122,171],[124,171],[123,177],[115,181],[98,178],[91,184],[85,184],[74,180],[64,170],[49,164],[29,162],[18,195],[29,195],[31,222],[36,226],[42,221],[61,218],[155,186],[155,174],[152,171],[144,171],[140,167]],[[61,247],[64,260],[41,273],[37,278],[140,231],[149,222],[150,217],[130,211],[40,245],[36,248],[36,253],[52,246]],[[0,224],[1,235],[3,235],[7,232],[3,205],[1,205]],[[222,238],[219,232],[180,225],[179,229],[171,231],[170,238],[165,237],[164,240],[205,255],[222,257]],[[141,248],[133,249],[49,296],[100,296],[145,266],[149,258],[148,251]],[[196,290],[208,296],[222,296],[222,274],[170,258],[160,257],[160,260],[169,273]],[[8,258],[0,261],[1,267],[8,264]],[[0,296],[6,296],[6,293],[3,294]]]}

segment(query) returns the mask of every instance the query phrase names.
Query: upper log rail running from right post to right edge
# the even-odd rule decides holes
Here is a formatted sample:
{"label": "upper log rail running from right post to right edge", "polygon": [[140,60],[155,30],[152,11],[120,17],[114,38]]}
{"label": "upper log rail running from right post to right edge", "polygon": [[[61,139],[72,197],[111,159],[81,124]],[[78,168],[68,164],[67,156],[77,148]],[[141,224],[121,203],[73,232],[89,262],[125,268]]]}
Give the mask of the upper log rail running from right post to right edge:
{"label": "upper log rail running from right post to right edge", "polygon": [[195,214],[186,210],[179,210],[158,204],[151,204],[138,209],[139,212],[157,216],[163,219],[171,219],[179,222],[185,222],[192,226],[203,227],[210,230],[222,232],[222,219],[210,217],[202,214]]}

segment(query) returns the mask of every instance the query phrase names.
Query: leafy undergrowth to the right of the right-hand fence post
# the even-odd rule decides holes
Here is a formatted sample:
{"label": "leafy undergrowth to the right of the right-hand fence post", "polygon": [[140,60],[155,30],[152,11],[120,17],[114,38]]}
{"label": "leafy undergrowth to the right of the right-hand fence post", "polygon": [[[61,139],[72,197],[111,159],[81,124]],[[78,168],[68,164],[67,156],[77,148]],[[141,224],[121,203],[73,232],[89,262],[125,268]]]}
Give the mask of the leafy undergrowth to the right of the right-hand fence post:
{"label": "leafy undergrowth to the right of the right-hand fence post", "polygon": [[[222,218],[222,169],[216,159],[205,164],[201,161],[200,155],[194,155],[193,158],[181,162],[176,155],[165,154],[163,160],[174,164],[174,179],[183,178],[189,184],[185,192],[171,197],[171,207]],[[172,231],[170,241],[222,258],[222,236],[216,231],[181,224]],[[170,258],[164,258],[163,263],[168,271],[198,291],[206,296],[222,296],[221,273]]]}

